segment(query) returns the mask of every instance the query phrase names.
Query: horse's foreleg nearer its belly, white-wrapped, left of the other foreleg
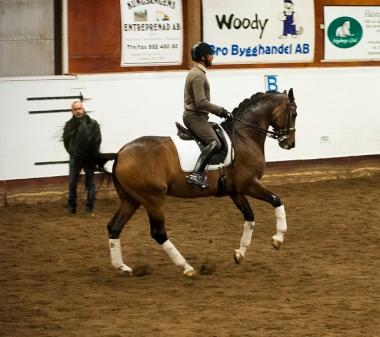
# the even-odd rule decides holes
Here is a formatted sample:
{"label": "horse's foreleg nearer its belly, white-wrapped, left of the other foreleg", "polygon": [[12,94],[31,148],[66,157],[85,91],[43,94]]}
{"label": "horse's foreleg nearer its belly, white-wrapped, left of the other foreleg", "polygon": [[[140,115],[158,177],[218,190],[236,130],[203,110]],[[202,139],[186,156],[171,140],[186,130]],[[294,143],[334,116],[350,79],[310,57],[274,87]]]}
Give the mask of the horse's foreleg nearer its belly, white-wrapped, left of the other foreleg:
{"label": "horse's foreleg nearer its belly, white-wrapped, left of the other foreleg", "polygon": [[244,216],[244,230],[240,239],[239,249],[235,249],[234,260],[237,264],[243,261],[245,252],[251,244],[253,229],[255,227],[255,215],[249,205],[247,198],[243,195],[230,195],[237,208]]}

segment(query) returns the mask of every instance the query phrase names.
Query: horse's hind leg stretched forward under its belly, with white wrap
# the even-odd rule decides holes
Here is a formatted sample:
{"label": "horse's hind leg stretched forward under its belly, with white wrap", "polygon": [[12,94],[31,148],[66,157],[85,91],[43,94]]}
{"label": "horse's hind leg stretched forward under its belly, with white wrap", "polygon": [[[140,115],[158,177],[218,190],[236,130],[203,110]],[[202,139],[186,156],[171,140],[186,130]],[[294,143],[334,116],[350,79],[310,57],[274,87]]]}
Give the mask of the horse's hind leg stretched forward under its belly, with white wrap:
{"label": "horse's hind leg stretched forward under its belly, with white wrap", "polygon": [[165,230],[165,215],[162,211],[163,200],[160,198],[154,202],[152,199],[148,204],[144,204],[150,223],[150,233],[162,249],[168,254],[173,263],[179,267],[187,277],[196,275],[194,268],[186,261],[174,244],[168,239]]}

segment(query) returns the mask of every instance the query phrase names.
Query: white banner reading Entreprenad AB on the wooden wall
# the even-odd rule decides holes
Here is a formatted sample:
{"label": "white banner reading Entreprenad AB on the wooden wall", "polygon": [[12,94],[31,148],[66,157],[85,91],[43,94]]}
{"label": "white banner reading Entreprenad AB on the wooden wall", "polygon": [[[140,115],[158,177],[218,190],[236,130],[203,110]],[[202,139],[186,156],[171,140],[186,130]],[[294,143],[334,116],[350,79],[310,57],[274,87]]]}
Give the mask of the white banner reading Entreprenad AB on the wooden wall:
{"label": "white banner reading Entreprenad AB on the wooden wall", "polygon": [[121,66],[180,65],[181,0],[120,0]]}

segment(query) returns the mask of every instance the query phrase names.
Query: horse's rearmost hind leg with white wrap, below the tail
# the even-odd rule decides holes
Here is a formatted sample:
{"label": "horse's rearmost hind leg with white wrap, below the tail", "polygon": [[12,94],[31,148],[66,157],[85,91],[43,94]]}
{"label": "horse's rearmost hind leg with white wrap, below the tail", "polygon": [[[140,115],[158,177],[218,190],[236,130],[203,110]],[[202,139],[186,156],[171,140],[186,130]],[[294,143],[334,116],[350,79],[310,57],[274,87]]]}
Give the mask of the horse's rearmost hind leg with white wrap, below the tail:
{"label": "horse's rearmost hind leg with white wrap, below the tail", "polygon": [[107,225],[111,263],[114,268],[132,275],[132,268],[123,261],[119,237],[123,227],[139,208],[140,203],[127,194],[120,196],[120,199],[120,207]]}

